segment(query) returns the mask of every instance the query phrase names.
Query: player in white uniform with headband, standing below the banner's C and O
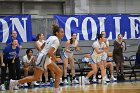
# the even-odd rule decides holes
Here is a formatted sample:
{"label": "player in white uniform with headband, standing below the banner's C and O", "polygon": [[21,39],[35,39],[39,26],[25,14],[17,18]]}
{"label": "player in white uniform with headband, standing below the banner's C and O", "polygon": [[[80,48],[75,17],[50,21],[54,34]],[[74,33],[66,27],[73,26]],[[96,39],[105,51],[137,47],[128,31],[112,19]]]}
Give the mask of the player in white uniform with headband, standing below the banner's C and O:
{"label": "player in white uniform with headband, standing below the banner's C and O", "polygon": [[68,40],[65,44],[65,51],[64,51],[64,83],[67,84],[67,68],[68,68],[68,60],[71,66],[71,73],[72,73],[72,83],[79,83],[78,80],[75,78],[75,65],[74,65],[74,56],[73,51],[79,51],[80,48],[78,47],[78,40],[77,34],[73,33],[71,39]]}

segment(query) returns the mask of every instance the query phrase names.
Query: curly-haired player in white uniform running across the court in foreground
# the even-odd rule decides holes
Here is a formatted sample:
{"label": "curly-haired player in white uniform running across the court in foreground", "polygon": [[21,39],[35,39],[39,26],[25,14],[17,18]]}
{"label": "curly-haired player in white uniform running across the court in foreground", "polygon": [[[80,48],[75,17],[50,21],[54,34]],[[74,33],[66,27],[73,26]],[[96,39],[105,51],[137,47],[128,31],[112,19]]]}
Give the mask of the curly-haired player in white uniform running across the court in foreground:
{"label": "curly-haired player in white uniform running across the court in foreground", "polygon": [[64,31],[62,28],[58,27],[57,25],[53,25],[52,28],[53,28],[54,36],[50,36],[46,40],[44,48],[39,53],[34,75],[25,77],[20,80],[10,80],[10,85],[9,85],[10,90],[13,90],[13,87],[17,84],[23,84],[23,83],[39,80],[40,76],[43,74],[44,69],[49,68],[51,71],[55,73],[54,93],[60,93],[59,83],[60,83],[60,78],[62,77],[62,71],[56,65],[55,62],[59,62],[61,61],[61,59],[56,58],[54,52],[57,50],[58,46],[60,45],[59,40],[63,38]]}

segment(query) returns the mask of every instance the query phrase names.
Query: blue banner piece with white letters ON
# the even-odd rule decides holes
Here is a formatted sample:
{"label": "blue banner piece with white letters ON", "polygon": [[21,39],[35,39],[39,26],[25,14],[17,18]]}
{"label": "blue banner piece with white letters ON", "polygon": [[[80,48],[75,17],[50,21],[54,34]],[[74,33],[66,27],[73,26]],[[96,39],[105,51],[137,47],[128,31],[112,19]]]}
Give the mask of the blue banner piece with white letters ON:
{"label": "blue banner piece with white letters ON", "polygon": [[0,42],[5,43],[13,30],[17,31],[20,42],[31,41],[31,15],[0,16]]}

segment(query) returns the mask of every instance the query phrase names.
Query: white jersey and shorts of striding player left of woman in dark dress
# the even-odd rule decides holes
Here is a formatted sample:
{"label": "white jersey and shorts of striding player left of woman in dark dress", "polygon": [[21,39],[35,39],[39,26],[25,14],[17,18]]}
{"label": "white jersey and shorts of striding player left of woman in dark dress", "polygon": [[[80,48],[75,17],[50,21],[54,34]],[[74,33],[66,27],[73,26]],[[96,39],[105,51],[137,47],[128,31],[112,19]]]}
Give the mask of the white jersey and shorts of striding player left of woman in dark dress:
{"label": "white jersey and shorts of striding player left of woman in dark dress", "polygon": [[[103,50],[105,47],[105,43],[99,43],[99,41],[95,41],[92,45],[93,49],[98,48],[99,50]],[[101,61],[101,55],[102,53],[98,54],[95,50],[93,51],[93,53],[91,54],[91,58],[93,59],[93,61],[96,62],[100,62]]]}

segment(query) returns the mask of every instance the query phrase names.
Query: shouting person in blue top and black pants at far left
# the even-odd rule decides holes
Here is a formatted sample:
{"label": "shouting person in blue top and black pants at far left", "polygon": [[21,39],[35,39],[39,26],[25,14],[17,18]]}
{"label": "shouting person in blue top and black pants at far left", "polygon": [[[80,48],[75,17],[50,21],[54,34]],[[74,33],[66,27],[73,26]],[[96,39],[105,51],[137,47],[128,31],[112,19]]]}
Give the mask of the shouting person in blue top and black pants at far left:
{"label": "shouting person in blue top and black pants at far left", "polygon": [[[20,48],[18,47],[18,40],[16,39],[13,39],[12,44],[5,47],[1,56],[2,62],[5,63],[4,72],[2,71],[2,76],[5,76],[6,68],[8,65],[9,79],[20,79],[19,51]],[[15,87],[15,89],[17,89],[17,86]]]}

